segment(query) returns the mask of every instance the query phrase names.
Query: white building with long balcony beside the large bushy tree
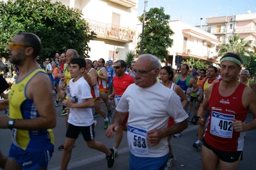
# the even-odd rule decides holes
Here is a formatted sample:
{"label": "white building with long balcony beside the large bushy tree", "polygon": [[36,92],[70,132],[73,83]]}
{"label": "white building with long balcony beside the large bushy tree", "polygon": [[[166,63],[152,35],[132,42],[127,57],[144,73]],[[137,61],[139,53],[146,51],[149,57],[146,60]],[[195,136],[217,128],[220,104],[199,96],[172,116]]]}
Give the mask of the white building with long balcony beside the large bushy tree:
{"label": "white building with long balcony beside the large bushy tree", "polygon": [[[103,58],[125,59],[135,48],[138,0],[60,0],[69,8],[82,11],[83,18],[97,35],[90,41],[92,61]],[[53,1],[55,2],[55,1]]]}

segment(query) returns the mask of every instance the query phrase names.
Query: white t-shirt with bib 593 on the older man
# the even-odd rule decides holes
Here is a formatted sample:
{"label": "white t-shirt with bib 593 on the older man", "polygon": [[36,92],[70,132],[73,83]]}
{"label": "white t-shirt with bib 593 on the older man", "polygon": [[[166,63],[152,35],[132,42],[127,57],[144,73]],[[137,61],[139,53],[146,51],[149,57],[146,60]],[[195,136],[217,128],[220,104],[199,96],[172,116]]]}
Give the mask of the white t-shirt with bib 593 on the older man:
{"label": "white t-shirt with bib 593 on the older man", "polygon": [[140,88],[131,84],[124,91],[116,110],[129,112],[128,145],[131,153],[136,157],[163,157],[166,155],[169,152],[167,137],[161,139],[157,145],[149,146],[145,141],[146,132],[152,129],[166,128],[170,116],[175,123],[180,123],[188,118],[180,102],[180,97],[159,82],[149,88]]}

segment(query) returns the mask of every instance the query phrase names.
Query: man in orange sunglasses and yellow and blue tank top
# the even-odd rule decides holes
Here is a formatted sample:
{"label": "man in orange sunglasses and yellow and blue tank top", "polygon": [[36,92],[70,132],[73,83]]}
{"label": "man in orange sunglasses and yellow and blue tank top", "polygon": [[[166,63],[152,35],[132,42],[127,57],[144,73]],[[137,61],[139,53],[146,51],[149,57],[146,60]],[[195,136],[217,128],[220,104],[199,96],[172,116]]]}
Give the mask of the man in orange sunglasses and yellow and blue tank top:
{"label": "man in orange sunglasses and yellow and blue tank top", "polygon": [[0,115],[0,128],[12,132],[8,157],[0,154],[2,169],[47,169],[53,155],[56,111],[51,80],[35,61],[41,49],[40,39],[32,33],[18,33],[7,47],[10,62],[22,72],[8,100],[0,102],[1,110],[10,111],[10,118]]}

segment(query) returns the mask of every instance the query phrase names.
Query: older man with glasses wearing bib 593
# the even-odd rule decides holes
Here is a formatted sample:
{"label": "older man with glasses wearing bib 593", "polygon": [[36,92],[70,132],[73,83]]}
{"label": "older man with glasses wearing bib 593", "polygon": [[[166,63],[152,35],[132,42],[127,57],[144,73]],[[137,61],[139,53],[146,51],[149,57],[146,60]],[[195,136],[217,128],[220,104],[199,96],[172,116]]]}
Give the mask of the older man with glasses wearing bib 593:
{"label": "older man with glasses wearing bib 593", "polygon": [[[107,137],[114,137],[123,116],[129,111],[128,146],[130,169],[165,169],[169,157],[167,136],[187,128],[187,114],[175,92],[157,82],[160,61],[151,54],[139,56],[131,84],[115,108],[113,124]],[[175,124],[167,127],[169,117]]]}

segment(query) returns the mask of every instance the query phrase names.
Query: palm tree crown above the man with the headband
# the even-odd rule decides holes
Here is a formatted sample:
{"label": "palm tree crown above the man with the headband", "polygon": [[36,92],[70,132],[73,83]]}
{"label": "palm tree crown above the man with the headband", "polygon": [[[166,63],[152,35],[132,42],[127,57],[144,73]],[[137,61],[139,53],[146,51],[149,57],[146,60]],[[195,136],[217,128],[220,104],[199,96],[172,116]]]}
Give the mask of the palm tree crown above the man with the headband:
{"label": "palm tree crown above the man with the headband", "polygon": [[223,56],[226,52],[239,54],[244,64],[248,64],[248,56],[250,54],[248,47],[251,47],[252,40],[244,40],[239,35],[234,35],[234,38],[229,38],[228,43],[220,45],[219,55]]}

